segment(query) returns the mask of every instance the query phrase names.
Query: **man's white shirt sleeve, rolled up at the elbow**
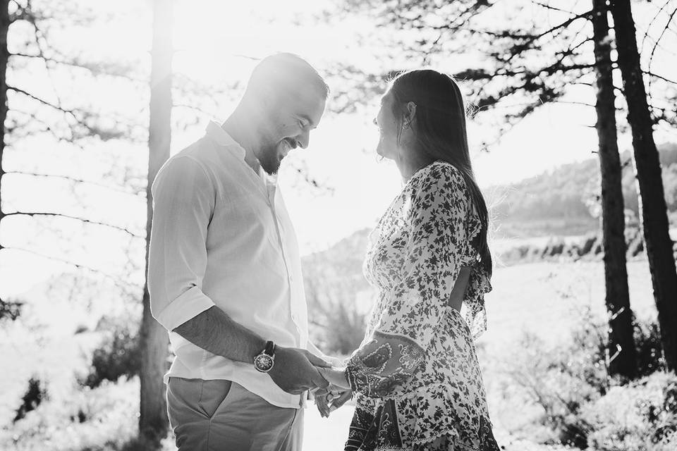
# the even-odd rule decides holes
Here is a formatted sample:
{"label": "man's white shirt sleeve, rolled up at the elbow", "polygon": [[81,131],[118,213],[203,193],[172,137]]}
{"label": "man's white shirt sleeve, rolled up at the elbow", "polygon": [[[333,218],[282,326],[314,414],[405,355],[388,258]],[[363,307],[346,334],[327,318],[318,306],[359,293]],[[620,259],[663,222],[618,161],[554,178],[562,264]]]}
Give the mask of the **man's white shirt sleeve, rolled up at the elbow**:
{"label": "man's white shirt sleeve, rolled up at the elbow", "polygon": [[152,194],[150,308],[154,318],[171,331],[214,305],[202,292],[202,279],[216,192],[200,163],[190,156],[178,156],[161,168]]}

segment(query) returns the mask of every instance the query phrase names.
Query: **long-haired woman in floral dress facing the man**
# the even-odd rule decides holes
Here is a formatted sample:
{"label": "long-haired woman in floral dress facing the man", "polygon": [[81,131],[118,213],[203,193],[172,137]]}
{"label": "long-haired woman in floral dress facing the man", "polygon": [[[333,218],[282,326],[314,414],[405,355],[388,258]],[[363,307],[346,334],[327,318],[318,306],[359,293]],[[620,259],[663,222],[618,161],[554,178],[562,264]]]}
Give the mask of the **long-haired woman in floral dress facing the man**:
{"label": "long-haired woman in floral dress facing the man", "polygon": [[364,270],[379,295],[365,340],[346,369],[320,369],[357,394],[346,450],[499,450],[473,344],[492,256],[461,92],[434,70],[404,73],[375,122],[377,152],[405,185],[370,235]]}

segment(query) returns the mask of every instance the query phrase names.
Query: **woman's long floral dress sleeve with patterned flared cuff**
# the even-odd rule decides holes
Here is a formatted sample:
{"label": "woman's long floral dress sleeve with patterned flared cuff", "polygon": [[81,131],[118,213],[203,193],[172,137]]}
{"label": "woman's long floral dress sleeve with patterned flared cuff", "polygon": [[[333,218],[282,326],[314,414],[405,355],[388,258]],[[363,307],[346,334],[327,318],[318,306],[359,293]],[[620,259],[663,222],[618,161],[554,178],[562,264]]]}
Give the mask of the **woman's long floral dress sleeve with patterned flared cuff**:
{"label": "woman's long floral dress sleeve with patterned flared cuff", "polygon": [[453,166],[432,165],[416,180],[403,210],[408,233],[393,244],[403,257],[397,283],[384,293],[372,335],[346,366],[353,390],[394,395],[420,366],[467,254],[469,204],[465,181]]}

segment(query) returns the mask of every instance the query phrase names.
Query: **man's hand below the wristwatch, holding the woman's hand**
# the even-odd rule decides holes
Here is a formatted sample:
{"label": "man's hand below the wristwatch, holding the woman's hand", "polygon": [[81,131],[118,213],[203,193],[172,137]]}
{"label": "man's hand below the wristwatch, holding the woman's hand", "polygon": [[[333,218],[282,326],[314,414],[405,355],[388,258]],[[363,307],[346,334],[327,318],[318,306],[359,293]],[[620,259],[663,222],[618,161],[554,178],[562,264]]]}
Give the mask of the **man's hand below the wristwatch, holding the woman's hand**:
{"label": "man's hand below the wristwatch, holding the woman's hand", "polygon": [[278,346],[275,349],[275,364],[268,374],[282,390],[300,395],[306,390],[329,386],[329,382],[317,371],[318,366],[331,367],[329,363],[306,350]]}

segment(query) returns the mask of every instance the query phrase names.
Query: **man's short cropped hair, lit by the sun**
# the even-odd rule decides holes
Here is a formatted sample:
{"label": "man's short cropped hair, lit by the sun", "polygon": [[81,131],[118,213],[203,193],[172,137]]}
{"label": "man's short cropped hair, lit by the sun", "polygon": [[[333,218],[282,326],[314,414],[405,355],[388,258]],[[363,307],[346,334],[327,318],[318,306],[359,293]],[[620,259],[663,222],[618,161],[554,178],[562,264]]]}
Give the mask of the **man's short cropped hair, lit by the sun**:
{"label": "man's short cropped hair, lit by the sun", "polygon": [[329,86],[317,70],[295,54],[281,53],[263,58],[254,68],[247,84],[247,92],[255,93],[274,89],[277,92],[295,92],[314,87],[324,99]]}

